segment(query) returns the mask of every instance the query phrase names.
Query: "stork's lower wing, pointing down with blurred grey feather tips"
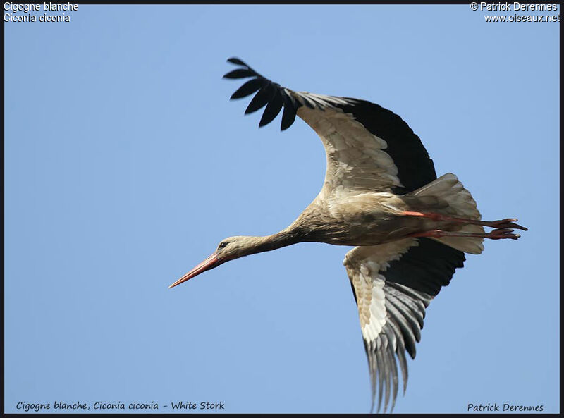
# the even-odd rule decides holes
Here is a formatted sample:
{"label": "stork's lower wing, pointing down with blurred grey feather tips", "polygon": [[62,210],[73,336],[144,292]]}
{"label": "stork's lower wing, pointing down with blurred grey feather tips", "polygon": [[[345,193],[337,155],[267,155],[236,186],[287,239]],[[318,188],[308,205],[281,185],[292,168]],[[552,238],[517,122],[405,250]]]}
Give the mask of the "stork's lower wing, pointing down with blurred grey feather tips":
{"label": "stork's lower wing, pointing down with blurred grey feather tips", "polygon": [[368,356],[373,408],[378,388],[378,410],[383,390],[384,412],[390,395],[393,410],[398,394],[396,356],[405,393],[405,351],[415,359],[425,308],[464,260],[463,252],[428,238],[355,247],[345,256]]}

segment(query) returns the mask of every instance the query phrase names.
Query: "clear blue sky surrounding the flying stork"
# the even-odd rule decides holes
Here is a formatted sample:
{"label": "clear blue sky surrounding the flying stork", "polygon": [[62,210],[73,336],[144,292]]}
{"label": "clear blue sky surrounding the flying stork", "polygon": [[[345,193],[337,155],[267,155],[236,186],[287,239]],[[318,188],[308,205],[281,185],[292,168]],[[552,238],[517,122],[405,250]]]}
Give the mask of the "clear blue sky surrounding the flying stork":
{"label": "clear blue sky surrounding the flying stork", "polygon": [[324,177],[305,123],[258,129],[248,99],[228,100],[230,56],[395,111],[484,219],[529,228],[468,255],[431,302],[395,412],[558,412],[560,23],[484,14],[80,5],[70,23],[5,23],[6,412],[369,411],[348,247],[294,245],[168,289],[222,238],[286,227]]}

